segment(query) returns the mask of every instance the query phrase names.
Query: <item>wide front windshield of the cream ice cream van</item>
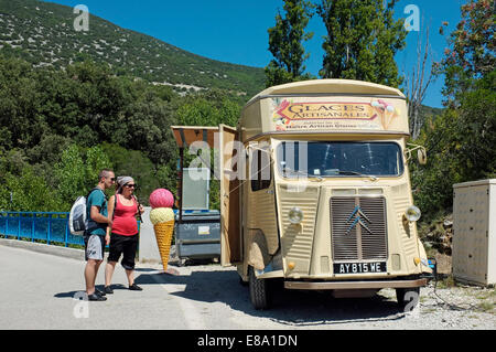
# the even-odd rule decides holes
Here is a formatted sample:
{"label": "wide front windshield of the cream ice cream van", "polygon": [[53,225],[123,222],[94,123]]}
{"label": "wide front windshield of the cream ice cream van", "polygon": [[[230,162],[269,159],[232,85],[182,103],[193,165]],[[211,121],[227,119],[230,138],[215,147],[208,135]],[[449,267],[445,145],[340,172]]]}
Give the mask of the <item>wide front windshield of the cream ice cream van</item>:
{"label": "wide front windshield of the cream ice cream van", "polygon": [[403,173],[401,148],[395,142],[283,141],[277,161],[288,178]]}

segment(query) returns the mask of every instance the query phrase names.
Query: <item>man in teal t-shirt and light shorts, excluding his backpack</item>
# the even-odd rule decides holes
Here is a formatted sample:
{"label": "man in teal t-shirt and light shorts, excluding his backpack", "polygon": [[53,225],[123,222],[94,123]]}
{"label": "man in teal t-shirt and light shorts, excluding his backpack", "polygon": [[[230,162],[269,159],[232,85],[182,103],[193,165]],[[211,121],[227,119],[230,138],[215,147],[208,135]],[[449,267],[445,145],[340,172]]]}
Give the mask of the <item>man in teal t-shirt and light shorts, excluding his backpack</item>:
{"label": "man in teal t-shirt and light shorts, excluding his backpack", "polygon": [[107,196],[104,191],[110,189],[116,183],[116,175],[112,170],[104,169],[98,174],[98,184],[91,190],[87,198],[88,228],[84,234],[85,239],[85,281],[88,300],[107,300],[105,292],[95,287],[98,268],[104,262],[104,249],[106,246],[105,235],[107,226],[111,226],[112,221],[107,214]]}

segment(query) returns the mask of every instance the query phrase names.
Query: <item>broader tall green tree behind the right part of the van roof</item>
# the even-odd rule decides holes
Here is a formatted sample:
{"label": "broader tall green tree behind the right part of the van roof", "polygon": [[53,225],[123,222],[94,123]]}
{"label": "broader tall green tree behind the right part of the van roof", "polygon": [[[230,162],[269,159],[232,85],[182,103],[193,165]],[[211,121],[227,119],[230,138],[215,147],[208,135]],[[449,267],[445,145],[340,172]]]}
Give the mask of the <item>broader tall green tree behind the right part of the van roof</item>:
{"label": "broader tall green tree behind the right part of the van roof", "polygon": [[398,0],[322,0],[317,13],[327,35],[323,78],[367,81],[399,87],[395,54],[405,47],[403,21],[393,20]]}

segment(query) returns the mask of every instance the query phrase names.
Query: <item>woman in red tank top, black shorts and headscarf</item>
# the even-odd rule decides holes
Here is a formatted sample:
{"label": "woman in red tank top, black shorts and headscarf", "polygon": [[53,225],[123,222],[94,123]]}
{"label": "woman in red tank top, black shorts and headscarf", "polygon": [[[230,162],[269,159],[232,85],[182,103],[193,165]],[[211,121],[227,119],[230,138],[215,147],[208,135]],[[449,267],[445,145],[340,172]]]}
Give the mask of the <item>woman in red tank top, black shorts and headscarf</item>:
{"label": "woman in red tank top, black shorts and headscarf", "polygon": [[114,294],[110,287],[117,262],[122,255],[120,264],[126,270],[129,289],[141,291],[134,282],[134,258],[138,247],[138,221],[136,215],[143,213],[143,206],[138,204],[133,195],[136,182],[130,177],[117,178],[117,191],[108,201],[108,216],[112,218],[112,226],[107,227],[106,239],[110,239],[109,255],[105,268],[105,292]]}

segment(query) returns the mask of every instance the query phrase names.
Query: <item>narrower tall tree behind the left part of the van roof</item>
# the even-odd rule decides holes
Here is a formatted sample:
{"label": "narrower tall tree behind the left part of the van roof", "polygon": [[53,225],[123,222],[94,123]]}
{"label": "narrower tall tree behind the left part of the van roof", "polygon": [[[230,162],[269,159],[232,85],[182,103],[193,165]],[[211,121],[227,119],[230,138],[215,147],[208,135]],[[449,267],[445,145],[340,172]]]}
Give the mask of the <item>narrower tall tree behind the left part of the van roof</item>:
{"label": "narrower tall tree behind the left part of the van roof", "polygon": [[313,36],[312,32],[305,33],[313,8],[310,1],[284,0],[285,17],[278,13],[276,25],[268,30],[269,51],[274,58],[266,67],[267,87],[311,78],[311,75],[303,74],[303,62],[309,54],[305,54],[302,43]]}

